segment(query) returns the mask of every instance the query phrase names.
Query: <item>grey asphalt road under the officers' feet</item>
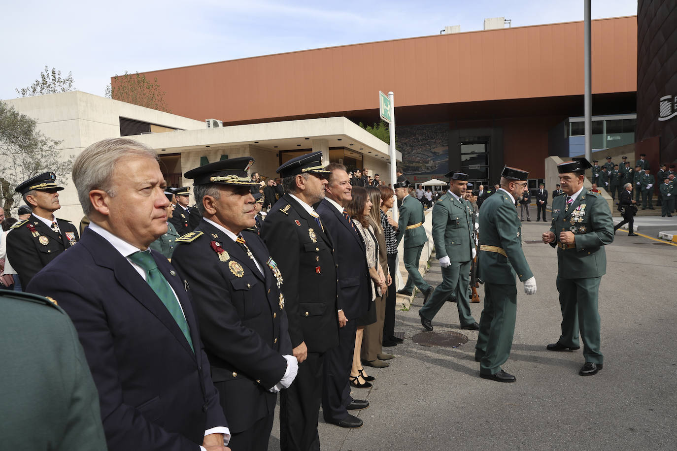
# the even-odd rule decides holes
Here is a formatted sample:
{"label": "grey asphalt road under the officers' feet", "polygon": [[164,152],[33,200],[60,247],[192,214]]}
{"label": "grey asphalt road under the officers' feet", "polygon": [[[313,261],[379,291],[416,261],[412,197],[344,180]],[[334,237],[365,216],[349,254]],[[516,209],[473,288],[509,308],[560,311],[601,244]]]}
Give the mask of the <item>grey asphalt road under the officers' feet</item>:
{"label": "grey asphalt road under the officers' feet", "polygon": [[[467,343],[456,349],[414,343],[424,332],[418,297],[409,311],[397,312],[396,330],[406,339],[386,348],[397,356],[391,366],[367,368],[374,386],[353,389],[371,403],[358,413],[364,426],[342,429],[320,419],[322,450],[677,449],[677,246],[620,231],[607,245],[599,301],[604,369],[581,377],[581,350],[546,350],[560,334],[556,251],[532,241],[548,227],[523,223],[538,293],[525,295],[518,282],[515,339],[503,366],[516,383],[479,377],[477,332],[458,329],[456,304],[443,306],[431,333],[463,332]],[[425,278],[441,281],[434,258]],[[482,304],[471,306],[479,321]],[[271,450],[279,449],[278,437],[276,412]]]}

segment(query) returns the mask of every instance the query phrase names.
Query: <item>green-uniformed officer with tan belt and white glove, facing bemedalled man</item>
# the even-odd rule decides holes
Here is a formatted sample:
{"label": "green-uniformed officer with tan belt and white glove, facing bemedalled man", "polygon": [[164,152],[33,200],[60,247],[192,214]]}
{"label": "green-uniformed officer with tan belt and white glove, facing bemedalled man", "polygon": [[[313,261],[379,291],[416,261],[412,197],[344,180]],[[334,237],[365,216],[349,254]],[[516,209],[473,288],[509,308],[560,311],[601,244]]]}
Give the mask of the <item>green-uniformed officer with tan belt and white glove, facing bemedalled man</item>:
{"label": "green-uniformed officer with tan belt and white glove, facing bemedalled man", "polygon": [[475,361],[480,362],[480,377],[498,382],[516,380],[501,369],[510,356],[515,333],[515,275],[524,282],[527,295],[536,293],[536,279],[522,251],[521,222],[515,208],[515,199],[527,189],[528,176],[529,172],[506,166],[500,189],[484,201],[479,215],[477,260],[479,278],[484,281],[484,309],[479,320]]}

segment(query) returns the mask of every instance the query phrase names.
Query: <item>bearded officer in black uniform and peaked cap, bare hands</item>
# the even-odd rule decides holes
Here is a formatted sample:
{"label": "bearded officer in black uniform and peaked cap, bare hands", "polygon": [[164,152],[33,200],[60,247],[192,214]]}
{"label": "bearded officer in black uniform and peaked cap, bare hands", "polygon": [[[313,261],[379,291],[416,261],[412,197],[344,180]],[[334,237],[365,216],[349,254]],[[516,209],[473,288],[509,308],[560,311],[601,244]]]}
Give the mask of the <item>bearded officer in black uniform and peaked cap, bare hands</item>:
{"label": "bearded officer in black uniform and peaked cap, bare hands", "polygon": [[334,245],[313,209],[324,199],[329,172],[322,152],[292,158],[276,172],[284,195],[265,217],[261,237],[284,279],[289,336],[299,361],[296,380],[280,394],[280,448],[320,450],[324,356],[339,345]]}

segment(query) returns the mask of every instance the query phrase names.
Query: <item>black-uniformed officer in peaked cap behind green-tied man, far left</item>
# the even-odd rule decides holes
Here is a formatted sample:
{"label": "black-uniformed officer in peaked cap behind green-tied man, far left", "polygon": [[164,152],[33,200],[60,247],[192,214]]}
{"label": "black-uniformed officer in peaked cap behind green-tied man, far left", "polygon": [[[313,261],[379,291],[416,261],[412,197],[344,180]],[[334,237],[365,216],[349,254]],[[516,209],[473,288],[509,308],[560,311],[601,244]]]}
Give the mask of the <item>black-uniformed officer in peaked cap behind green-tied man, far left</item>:
{"label": "black-uniformed officer in peaked cap behind green-tied man, far left", "polygon": [[[12,226],[7,239],[7,257],[19,275],[22,287],[47,263],[80,239],[77,228],[68,220],[56,218],[61,208],[56,174],[43,172],[16,187],[32,214]],[[9,235],[7,235],[9,237]]]}

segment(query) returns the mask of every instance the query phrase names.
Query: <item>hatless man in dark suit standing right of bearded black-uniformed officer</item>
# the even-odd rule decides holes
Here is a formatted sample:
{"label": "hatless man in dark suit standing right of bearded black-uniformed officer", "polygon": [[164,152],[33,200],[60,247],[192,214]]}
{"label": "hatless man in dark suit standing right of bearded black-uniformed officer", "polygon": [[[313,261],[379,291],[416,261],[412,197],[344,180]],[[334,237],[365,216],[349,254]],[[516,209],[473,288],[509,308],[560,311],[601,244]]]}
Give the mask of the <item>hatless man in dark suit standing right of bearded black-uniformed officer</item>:
{"label": "hatless man in dark suit standing right of bearded black-uniformed officer", "polygon": [[350,396],[349,376],[355,353],[357,319],[367,314],[370,304],[369,269],[364,241],[349,222],[345,206],[351,201],[351,185],[342,164],[326,167],[326,197],[318,206],[318,214],[328,231],[336,252],[336,277],[339,279],[339,346],[327,352],[322,391],[322,414],[328,423],[341,427],[360,427],[363,421],[348,413],[349,408],[366,401]]}

